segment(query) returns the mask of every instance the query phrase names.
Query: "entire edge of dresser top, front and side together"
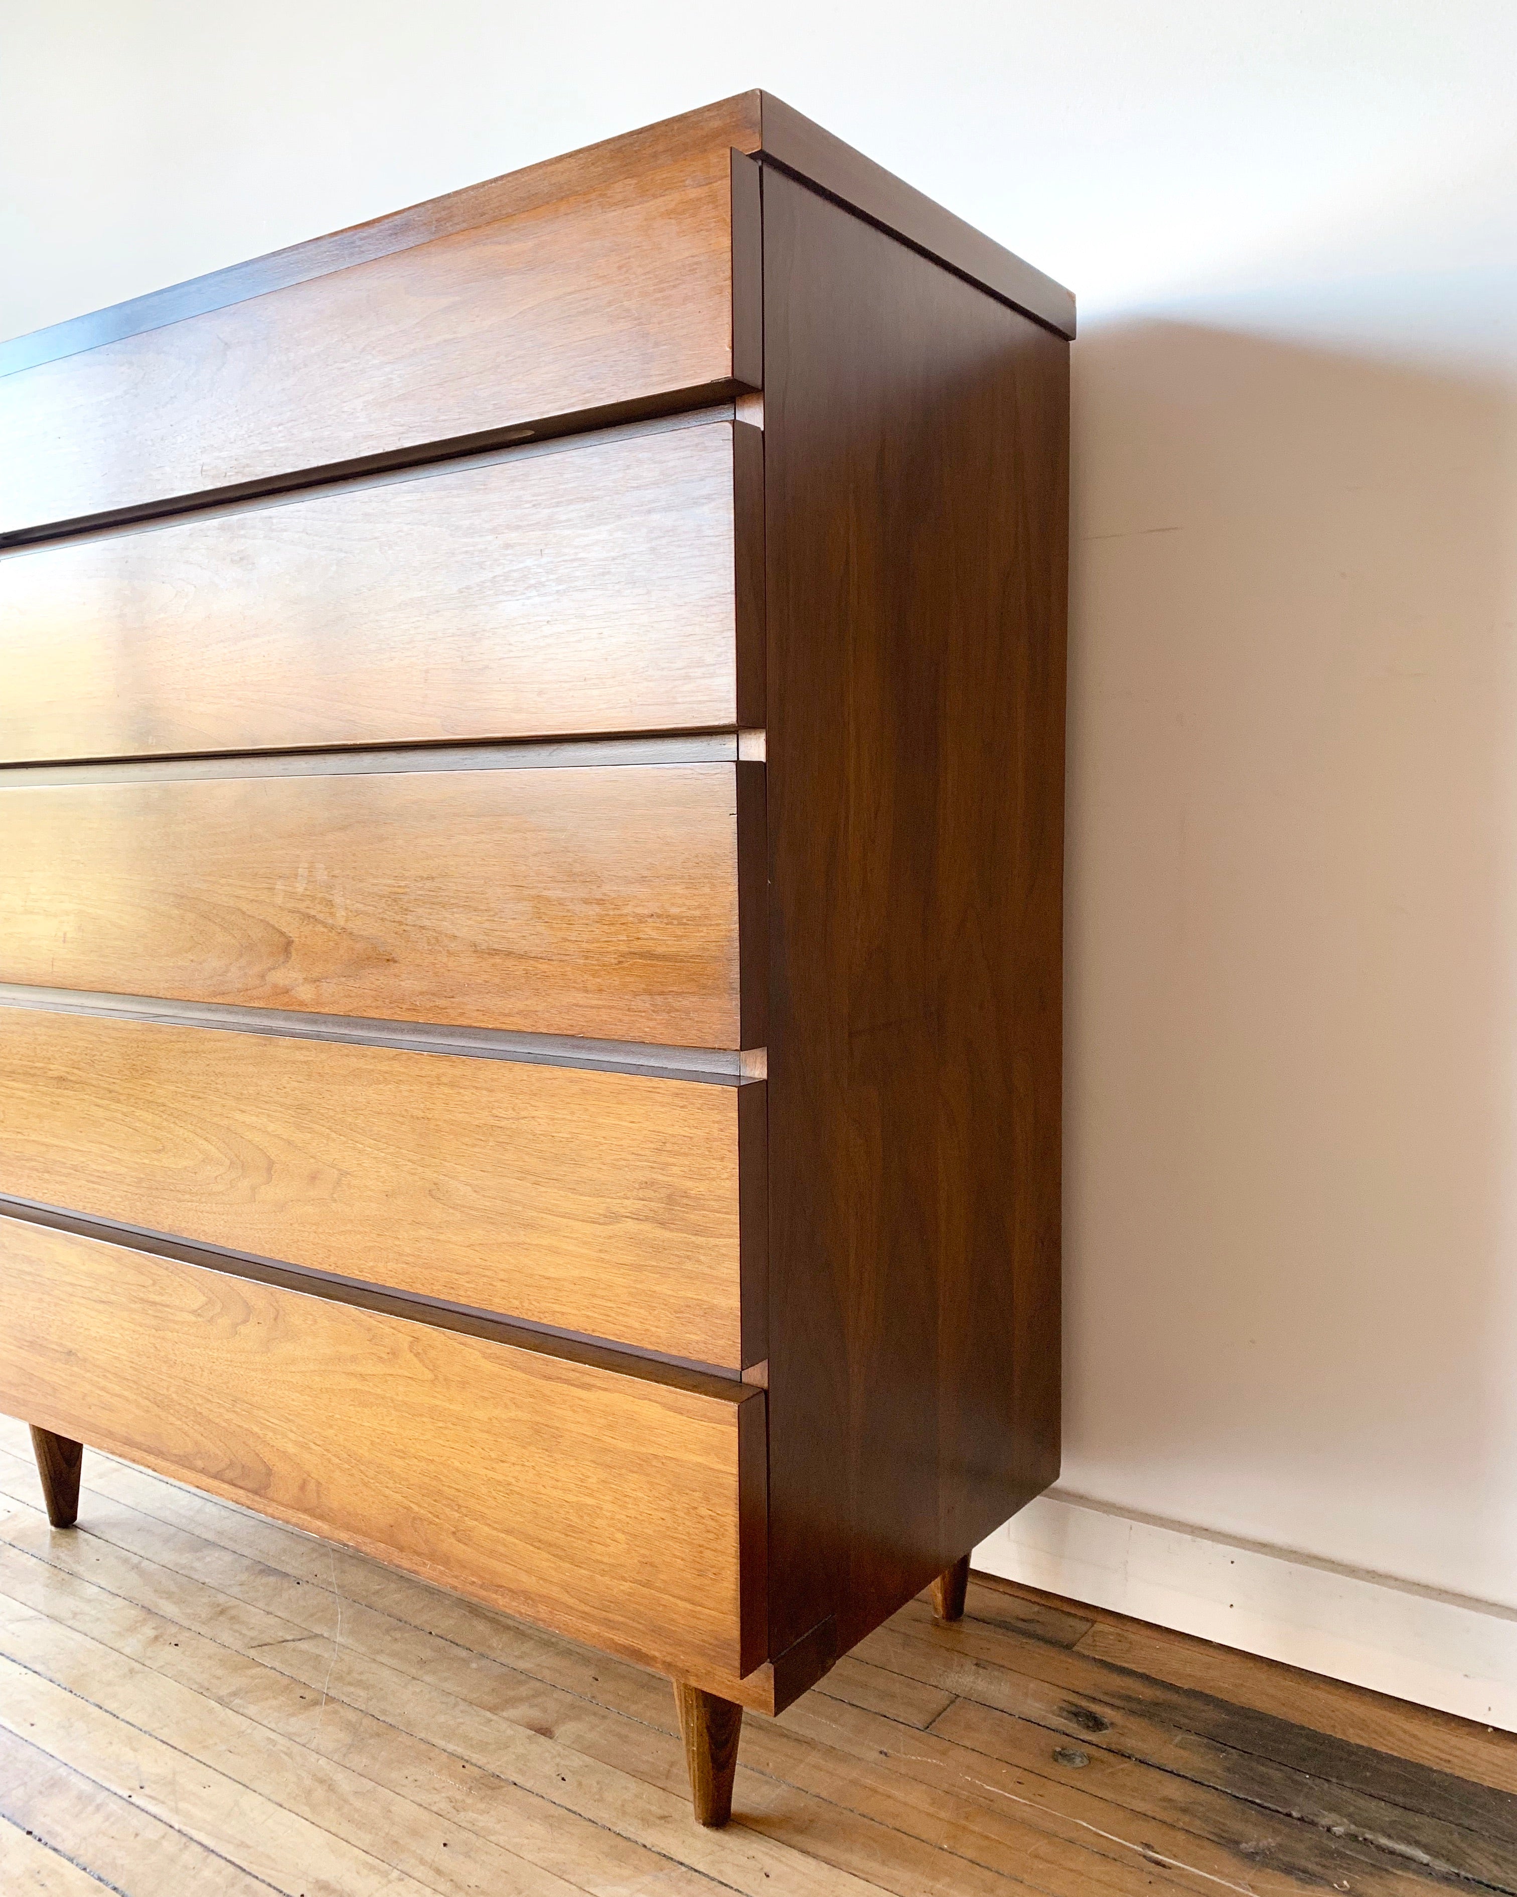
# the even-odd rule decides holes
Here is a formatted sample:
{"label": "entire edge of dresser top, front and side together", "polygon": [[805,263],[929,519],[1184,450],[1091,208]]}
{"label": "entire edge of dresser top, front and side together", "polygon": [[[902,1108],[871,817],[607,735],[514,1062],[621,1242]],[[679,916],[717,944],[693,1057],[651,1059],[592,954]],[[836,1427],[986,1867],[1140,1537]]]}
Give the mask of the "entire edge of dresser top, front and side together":
{"label": "entire edge of dresser top, front and side together", "polygon": [[186,283],[0,341],[0,376],[82,355],[104,343],[123,341],[127,336],[167,328],[186,317],[203,317],[212,309],[243,304],[269,290],[288,290],[298,283],[347,269],[351,264],[370,264],[434,237],[531,211],[569,190],[586,190],[624,173],[639,161],[675,159],[713,146],[772,159],[980,288],[1058,330],[1060,336],[1073,338],[1075,298],[1052,277],[1045,277],[1041,269],[1033,269],[973,224],[944,211],[884,165],[834,138],[783,99],[747,91],[614,138],[601,138],[576,152],[540,159],[520,171],[506,171],[482,184],[466,184],[442,197],[423,199],[404,211],[391,211],[364,224],[309,237],[245,264],[229,264],[203,277],[190,277]]}

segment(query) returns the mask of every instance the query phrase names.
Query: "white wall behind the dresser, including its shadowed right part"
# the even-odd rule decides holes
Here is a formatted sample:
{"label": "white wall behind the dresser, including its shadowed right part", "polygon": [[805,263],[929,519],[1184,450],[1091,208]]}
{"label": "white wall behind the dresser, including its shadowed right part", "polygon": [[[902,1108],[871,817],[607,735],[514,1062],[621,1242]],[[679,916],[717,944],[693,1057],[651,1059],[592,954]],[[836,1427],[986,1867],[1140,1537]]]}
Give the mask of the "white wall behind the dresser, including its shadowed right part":
{"label": "white wall behind the dresser, including its shadowed right part", "polygon": [[1079,292],[1064,1487],[1517,1607],[1517,11],[0,21],[4,334],[753,83]]}

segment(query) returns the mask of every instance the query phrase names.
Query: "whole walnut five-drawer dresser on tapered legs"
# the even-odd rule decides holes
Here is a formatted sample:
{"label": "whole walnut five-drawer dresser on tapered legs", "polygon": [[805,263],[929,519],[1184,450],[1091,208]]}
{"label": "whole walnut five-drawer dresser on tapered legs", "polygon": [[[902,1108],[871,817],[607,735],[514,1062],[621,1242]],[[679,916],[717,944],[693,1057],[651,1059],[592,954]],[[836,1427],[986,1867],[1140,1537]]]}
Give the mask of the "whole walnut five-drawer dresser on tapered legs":
{"label": "whole walnut five-drawer dresser on tapered legs", "polygon": [[666,1671],[1058,1468],[1069,294],[745,93],[0,351],[0,1408]]}

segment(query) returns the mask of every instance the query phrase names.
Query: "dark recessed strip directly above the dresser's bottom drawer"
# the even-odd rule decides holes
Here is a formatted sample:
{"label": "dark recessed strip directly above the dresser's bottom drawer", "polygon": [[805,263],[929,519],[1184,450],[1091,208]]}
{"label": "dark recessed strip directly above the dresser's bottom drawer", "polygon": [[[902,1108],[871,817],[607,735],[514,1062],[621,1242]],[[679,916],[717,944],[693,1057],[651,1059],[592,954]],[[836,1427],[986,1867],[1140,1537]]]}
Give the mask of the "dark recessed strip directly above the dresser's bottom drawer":
{"label": "dark recessed strip directly above the dresser's bottom drawer", "polygon": [[[63,1206],[34,1205],[28,1199],[11,1199],[0,1193],[0,1227],[4,1220],[21,1225],[44,1225],[47,1231],[66,1231],[76,1239],[95,1239],[101,1244],[118,1244],[148,1258],[167,1258],[180,1265],[199,1265],[203,1271],[216,1271],[222,1277],[248,1279],[254,1284],[273,1284],[279,1290],[302,1292],[307,1298],[320,1298],[326,1303],[356,1305],[360,1311],[377,1311],[381,1317],[398,1317],[410,1324],[429,1324],[432,1330],[453,1330],[465,1337],[482,1337],[485,1343],[501,1343],[512,1351],[533,1351],[539,1356],[557,1356],[569,1364],[586,1364],[592,1370],[609,1370],[618,1377],[639,1377],[645,1383],[664,1383],[669,1389],[688,1391],[692,1396],[715,1396],[730,1404],[757,1404],[755,1415],[762,1428],[764,1391],[743,1383],[736,1370],[722,1370],[715,1364],[690,1364],[675,1356],[660,1356],[654,1351],[633,1351],[626,1345],[611,1345],[597,1337],[584,1337],[576,1332],[552,1330],[546,1324],[523,1324],[520,1318],[497,1317],[491,1311],[465,1311],[459,1305],[442,1303],[432,1298],[411,1298],[387,1290],[381,1284],[366,1284],[356,1279],[339,1279],[328,1271],[307,1271],[303,1265],[286,1265],[273,1258],[254,1258],[250,1252],[231,1252],[220,1244],[190,1244],[163,1231],[144,1231],[140,1225],[123,1225],[108,1218],[83,1218]],[[4,1252],[4,1231],[0,1229],[0,1254]],[[753,1425],[745,1423],[747,1428]],[[749,1457],[749,1480],[755,1470]]]}

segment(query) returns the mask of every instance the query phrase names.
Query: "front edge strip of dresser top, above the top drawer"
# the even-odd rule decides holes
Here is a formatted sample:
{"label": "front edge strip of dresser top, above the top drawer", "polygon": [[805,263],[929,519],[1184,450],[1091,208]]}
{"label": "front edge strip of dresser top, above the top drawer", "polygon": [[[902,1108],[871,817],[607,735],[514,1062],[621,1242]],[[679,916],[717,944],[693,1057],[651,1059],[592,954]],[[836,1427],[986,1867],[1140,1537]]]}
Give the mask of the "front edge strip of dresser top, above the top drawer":
{"label": "front edge strip of dresser top, above the top drawer", "polygon": [[188,283],[133,296],[125,304],[112,304],[108,309],[70,317],[46,330],[17,336],[13,341],[0,343],[0,376],[13,376],[38,362],[57,362],[61,357],[99,349],[102,343],[121,341],[125,336],[161,330],[186,317],[203,317],[212,309],[226,309],[229,304],[243,304],[250,296],[264,296],[269,290],[288,290],[296,283],[309,283],[313,277],[326,277],[353,264],[372,264],[379,256],[394,256],[396,250],[413,250],[434,237],[518,216],[563,195],[569,180],[584,190],[586,180],[597,175],[618,176],[637,171],[649,159],[667,159],[677,140],[690,150],[709,150],[717,137],[745,152],[757,150],[757,91],[736,93],[732,99],[721,99],[698,112],[683,112],[660,120],[656,125],[641,125],[637,131],[601,138],[576,152],[565,152],[520,171],[506,171],[499,178],[485,178],[482,184],[466,184],[442,197],[429,197],[406,211],[391,211],[364,224],[349,224],[326,237],[309,237],[305,243],[271,250],[247,264],[212,269]]}

